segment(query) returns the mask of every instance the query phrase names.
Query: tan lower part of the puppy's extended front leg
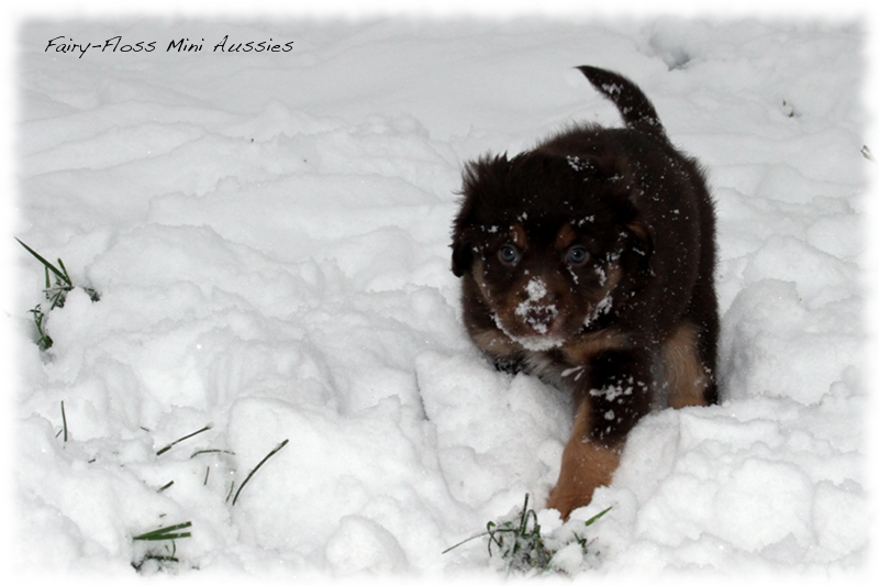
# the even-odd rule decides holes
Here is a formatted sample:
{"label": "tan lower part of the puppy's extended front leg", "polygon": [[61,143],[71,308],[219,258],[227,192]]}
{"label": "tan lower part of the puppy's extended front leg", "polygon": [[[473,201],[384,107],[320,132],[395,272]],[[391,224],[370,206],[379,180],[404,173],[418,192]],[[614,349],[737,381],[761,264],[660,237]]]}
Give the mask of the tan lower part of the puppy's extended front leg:
{"label": "tan lower part of the puppy's extended front leg", "polygon": [[617,449],[608,447],[589,439],[589,400],[582,400],[577,409],[571,433],[561,453],[561,469],[558,482],[549,494],[546,506],[556,509],[567,520],[570,511],[592,501],[592,493],[607,486],[620,465]]}

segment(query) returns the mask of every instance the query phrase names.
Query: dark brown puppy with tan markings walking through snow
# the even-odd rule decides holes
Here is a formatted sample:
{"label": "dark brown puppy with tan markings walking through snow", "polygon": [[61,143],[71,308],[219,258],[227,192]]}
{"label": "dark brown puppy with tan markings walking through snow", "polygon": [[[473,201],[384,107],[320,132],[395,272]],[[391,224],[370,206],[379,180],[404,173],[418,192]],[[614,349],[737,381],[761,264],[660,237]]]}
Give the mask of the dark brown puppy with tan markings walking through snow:
{"label": "dark brown puppy with tan markings walking through snow", "polygon": [[717,400],[705,180],[637,86],[579,69],[625,128],[577,125],[512,158],[467,164],[452,244],[476,345],[499,368],[574,396],[547,502],[563,518],[611,482],[644,414]]}

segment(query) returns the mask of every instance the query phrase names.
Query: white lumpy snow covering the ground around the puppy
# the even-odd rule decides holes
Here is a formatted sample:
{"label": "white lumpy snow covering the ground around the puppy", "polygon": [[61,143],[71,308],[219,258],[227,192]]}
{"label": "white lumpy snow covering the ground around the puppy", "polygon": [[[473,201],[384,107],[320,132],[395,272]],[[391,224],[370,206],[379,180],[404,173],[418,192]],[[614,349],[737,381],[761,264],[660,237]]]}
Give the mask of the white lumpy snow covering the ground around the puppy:
{"label": "white lumpy snow covering the ground around the puppy", "polygon": [[[62,35],[156,51],[44,51]],[[292,51],[211,52],[224,35]],[[616,124],[571,69],[593,64],[638,82],[709,170],[725,400],[638,425],[571,521],[613,507],[588,531],[598,555],[566,567],[857,572],[866,36],[758,20],[27,22],[14,234],[101,298],[71,292],[42,353],[43,270],[16,251],[15,567],[131,575],[170,553],[133,535],[190,521],[179,562],[144,572],[494,572],[481,541],[441,552],[526,493],[543,501],[569,413],[466,339],[454,192],[487,150]],[[165,51],[183,37],[204,48]]]}

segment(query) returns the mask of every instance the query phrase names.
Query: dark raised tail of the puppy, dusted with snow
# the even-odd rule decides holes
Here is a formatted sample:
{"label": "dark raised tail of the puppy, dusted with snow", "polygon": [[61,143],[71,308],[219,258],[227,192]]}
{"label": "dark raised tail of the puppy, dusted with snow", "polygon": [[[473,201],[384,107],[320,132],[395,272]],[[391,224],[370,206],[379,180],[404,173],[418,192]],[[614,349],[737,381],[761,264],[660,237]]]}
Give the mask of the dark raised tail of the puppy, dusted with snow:
{"label": "dark raised tail of the puppy, dusted with snow", "polygon": [[649,134],[655,139],[668,142],[666,130],[659,122],[659,117],[650,100],[635,84],[613,71],[581,65],[577,67],[605,98],[616,104],[623,122],[630,129]]}

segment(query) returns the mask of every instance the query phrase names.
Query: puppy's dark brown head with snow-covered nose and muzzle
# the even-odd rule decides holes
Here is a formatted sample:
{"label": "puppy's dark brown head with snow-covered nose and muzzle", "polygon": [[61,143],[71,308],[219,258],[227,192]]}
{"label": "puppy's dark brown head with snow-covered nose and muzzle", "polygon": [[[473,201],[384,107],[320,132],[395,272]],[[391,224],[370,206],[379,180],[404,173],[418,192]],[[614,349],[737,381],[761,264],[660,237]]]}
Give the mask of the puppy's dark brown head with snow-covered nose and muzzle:
{"label": "puppy's dark brown head with snow-covered nose and muzzle", "polygon": [[600,156],[537,150],[468,164],[452,269],[465,278],[470,334],[497,328],[544,350],[598,328],[647,269],[652,237],[633,189]]}

